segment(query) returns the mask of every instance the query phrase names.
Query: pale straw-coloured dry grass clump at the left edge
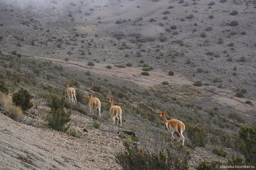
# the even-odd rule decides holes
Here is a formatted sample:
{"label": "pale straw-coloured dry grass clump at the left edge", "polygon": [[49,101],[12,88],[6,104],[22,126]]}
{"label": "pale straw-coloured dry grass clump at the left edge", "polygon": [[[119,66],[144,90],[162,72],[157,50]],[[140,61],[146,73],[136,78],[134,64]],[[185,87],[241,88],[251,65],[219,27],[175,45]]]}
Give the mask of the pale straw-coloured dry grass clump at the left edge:
{"label": "pale straw-coloured dry grass clump at the left edge", "polygon": [[0,91],[0,107],[9,110],[8,116],[13,120],[19,120],[23,117],[22,110],[19,106],[15,106],[11,99]]}

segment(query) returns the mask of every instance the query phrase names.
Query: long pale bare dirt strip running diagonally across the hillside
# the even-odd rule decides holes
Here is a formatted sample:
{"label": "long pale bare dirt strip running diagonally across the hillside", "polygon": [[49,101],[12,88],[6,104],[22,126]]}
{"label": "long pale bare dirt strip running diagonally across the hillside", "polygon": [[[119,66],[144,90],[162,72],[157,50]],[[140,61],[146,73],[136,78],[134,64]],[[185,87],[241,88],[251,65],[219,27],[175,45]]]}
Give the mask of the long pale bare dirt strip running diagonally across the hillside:
{"label": "long pale bare dirt strip running diagonally across the hillside", "polygon": [[[180,75],[174,75],[169,76],[167,73],[162,72],[157,69],[153,69],[149,72],[150,76],[143,76],[140,73],[142,72],[141,68],[139,67],[126,67],[126,68],[118,68],[118,67],[112,67],[112,69],[107,69],[106,66],[109,64],[102,64],[102,63],[95,63],[94,66],[87,65],[86,62],[76,62],[76,61],[63,61],[61,59],[49,59],[46,57],[39,57],[39,56],[31,56],[31,55],[23,55],[25,57],[33,57],[38,60],[42,61],[51,61],[54,64],[59,64],[65,69],[74,69],[77,71],[90,71],[94,75],[99,75],[103,77],[114,77],[117,79],[121,79],[122,81],[130,81],[135,84],[137,84],[139,87],[143,89],[150,89],[150,86],[156,85],[156,84],[162,84],[163,81],[168,81],[170,84],[176,84],[176,85],[193,85],[193,81],[189,81],[185,78],[183,78]],[[205,91],[205,87],[196,87],[200,90]],[[216,88],[215,86],[208,86],[209,88]],[[253,112],[253,110],[256,109],[255,101],[253,102],[253,105],[245,104],[246,98],[237,98],[234,97],[234,92],[228,90],[228,89],[221,89],[221,91],[218,92],[210,92],[214,93],[216,95],[212,96],[212,102],[217,103],[221,106],[226,107],[235,107],[238,110],[247,111],[247,112]]]}

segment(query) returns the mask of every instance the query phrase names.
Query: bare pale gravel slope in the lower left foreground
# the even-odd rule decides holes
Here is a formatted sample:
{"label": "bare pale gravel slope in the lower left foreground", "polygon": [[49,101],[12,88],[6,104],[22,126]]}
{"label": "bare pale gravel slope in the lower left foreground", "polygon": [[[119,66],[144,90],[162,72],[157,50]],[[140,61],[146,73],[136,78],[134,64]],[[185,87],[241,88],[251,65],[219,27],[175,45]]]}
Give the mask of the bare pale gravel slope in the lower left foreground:
{"label": "bare pale gravel slope in the lower left foreground", "polygon": [[[112,140],[120,127],[97,130],[83,115],[71,118],[81,139],[0,114],[0,169],[122,169],[114,160],[122,141]],[[34,119],[33,125],[44,126],[44,121]]]}

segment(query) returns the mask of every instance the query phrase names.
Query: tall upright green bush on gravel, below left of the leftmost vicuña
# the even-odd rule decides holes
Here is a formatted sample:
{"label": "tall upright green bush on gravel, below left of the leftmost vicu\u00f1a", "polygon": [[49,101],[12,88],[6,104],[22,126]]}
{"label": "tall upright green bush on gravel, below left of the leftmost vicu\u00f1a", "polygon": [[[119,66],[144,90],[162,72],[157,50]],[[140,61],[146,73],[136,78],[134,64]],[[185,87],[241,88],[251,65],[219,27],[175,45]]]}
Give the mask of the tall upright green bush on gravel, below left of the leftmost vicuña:
{"label": "tall upright green bush on gravel, below left of the leftmost vicu\u00f1a", "polygon": [[65,96],[59,98],[57,95],[50,95],[47,100],[51,108],[51,112],[46,116],[48,125],[55,130],[66,132],[70,127],[70,124],[66,125],[66,123],[71,120],[71,110],[67,112],[64,110],[64,106],[67,105]]}

